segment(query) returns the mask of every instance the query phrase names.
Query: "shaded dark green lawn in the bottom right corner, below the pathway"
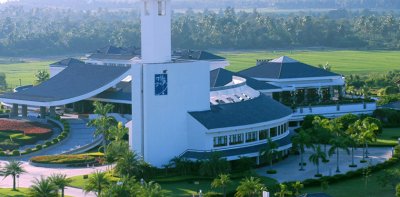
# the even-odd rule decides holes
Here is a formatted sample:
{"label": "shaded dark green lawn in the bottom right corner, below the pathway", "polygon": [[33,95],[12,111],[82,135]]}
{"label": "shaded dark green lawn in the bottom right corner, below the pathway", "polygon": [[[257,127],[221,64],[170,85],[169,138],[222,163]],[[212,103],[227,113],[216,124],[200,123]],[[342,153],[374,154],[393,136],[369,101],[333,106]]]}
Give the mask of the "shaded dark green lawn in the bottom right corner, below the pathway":
{"label": "shaded dark green lawn in the bottom right corner, below the pathway", "polygon": [[[400,168],[400,164],[397,164],[392,168]],[[382,173],[382,171],[372,173],[369,177],[367,185],[365,185],[365,179],[363,177],[332,184],[329,186],[329,189],[326,191],[326,193],[333,197],[393,197],[395,194],[394,189],[390,188],[389,186],[382,188],[382,186],[378,184],[377,177]],[[321,188],[306,188],[303,192],[321,192]]]}

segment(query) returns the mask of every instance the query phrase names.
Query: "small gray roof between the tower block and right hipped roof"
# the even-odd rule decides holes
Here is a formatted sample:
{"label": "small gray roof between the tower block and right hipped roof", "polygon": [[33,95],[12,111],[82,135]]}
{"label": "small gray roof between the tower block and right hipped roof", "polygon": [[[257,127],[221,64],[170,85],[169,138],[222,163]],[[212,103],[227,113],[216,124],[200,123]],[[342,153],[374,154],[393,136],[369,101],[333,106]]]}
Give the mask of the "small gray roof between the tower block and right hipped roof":
{"label": "small gray roof between the tower block and right hipped roof", "polygon": [[246,84],[255,90],[271,90],[280,89],[277,86],[265,83],[263,81],[255,80],[238,73],[234,73],[223,68],[218,68],[210,72],[210,88],[222,87],[232,82],[232,77],[238,76],[246,79]]}

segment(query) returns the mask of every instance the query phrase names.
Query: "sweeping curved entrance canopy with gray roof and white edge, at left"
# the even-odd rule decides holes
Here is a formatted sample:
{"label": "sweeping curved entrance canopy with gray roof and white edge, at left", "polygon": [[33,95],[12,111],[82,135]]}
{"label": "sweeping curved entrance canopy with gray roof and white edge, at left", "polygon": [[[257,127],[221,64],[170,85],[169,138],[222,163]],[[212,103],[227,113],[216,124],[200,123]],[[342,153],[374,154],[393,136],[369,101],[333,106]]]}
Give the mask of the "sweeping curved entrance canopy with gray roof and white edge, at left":
{"label": "sweeping curved entrance canopy with gray roof and white edge, at left", "polygon": [[0,101],[41,107],[66,105],[96,96],[115,86],[128,75],[128,66],[78,63],[38,86],[0,95]]}

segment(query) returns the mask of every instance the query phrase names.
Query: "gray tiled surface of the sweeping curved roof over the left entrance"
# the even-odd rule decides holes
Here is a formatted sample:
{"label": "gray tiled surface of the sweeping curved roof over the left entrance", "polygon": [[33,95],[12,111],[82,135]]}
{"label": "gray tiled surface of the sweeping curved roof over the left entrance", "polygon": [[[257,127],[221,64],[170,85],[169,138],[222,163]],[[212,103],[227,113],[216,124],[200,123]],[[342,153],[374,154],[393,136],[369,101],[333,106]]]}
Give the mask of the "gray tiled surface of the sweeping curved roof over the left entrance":
{"label": "gray tiled surface of the sweeping curved roof over the left entrance", "polygon": [[0,95],[1,98],[52,102],[75,98],[106,86],[130,67],[74,64],[38,86]]}

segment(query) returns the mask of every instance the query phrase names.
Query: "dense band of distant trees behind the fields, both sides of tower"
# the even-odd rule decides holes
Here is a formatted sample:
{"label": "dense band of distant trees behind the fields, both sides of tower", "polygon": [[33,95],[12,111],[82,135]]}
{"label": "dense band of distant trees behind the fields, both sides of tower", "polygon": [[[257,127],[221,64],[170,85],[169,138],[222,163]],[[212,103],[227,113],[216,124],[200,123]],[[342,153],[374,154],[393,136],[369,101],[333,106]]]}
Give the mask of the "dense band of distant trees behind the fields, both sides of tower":
{"label": "dense band of distant trees behind the fields, both sides of tower", "polygon": [[[343,18],[236,12],[233,8],[188,11],[174,14],[172,31],[174,48],[400,48],[400,17],[390,14]],[[0,10],[1,55],[82,53],[108,44],[140,46],[137,12],[21,7]]]}

